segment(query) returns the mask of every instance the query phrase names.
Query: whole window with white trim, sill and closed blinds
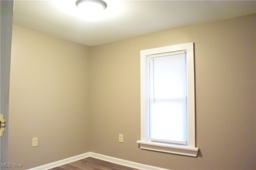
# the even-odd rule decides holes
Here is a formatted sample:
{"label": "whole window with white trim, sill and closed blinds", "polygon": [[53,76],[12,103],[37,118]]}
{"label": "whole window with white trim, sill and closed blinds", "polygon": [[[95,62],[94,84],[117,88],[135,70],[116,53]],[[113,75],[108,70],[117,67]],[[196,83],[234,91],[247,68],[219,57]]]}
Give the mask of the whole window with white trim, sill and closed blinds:
{"label": "whole window with white trim, sill and closed blinds", "polygon": [[194,43],[140,51],[141,149],[196,156]]}

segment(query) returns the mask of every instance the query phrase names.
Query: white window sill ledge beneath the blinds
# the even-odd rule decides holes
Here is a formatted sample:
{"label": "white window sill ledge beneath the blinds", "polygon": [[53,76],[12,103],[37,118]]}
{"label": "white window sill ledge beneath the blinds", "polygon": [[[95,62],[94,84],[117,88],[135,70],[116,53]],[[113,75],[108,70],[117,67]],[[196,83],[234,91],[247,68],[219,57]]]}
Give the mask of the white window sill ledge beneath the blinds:
{"label": "white window sill ledge beneath the blinds", "polygon": [[199,148],[196,147],[187,147],[182,145],[179,146],[157,142],[137,141],[137,143],[140,144],[140,149],[155,150],[159,152],[168,152],[188,156],[197,156],[199,150]]}

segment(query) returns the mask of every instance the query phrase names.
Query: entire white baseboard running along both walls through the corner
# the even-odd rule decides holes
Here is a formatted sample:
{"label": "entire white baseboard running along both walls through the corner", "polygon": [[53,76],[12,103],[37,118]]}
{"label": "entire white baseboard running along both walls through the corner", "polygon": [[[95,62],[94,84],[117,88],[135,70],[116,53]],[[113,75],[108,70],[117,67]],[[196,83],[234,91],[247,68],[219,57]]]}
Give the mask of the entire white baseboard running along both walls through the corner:
{"label": "entire white baseboard running along both walls through the corner", "polygon": [[124,165],[124,166],[129,166],[129,167],[140,169],[140,170],[167,170],[167,169],[159,168],[159,167],[156,167],[156,166],[140,164],[140,163],[137,163],[137,162],[132,162],[132,161],[129,161],[129,160],[124,160],[124,159],[120,159],[120,158],[106,156],[106,155],[103,155],[103,154],[97,154],[97,153],[94,153],[94,152],[86,152],[84,154],[79,154],[79,155],[76,155],[76,156],[72,156],[70,158],[66,158],[66,159],[63,159],[63,160],[52,162],[50,164],[37,166],[37,167],[31,168],[29,170],[48,170],[48,169],[51,169],[51,168],[55,168],[57,166],[68,164],[70,162],[74,162],[74,161],[84,159],[84,158],[88,158],[88,157],[97,158],[97,159],[100,159],[100,160],[105,160],[105,161],[108,161],[108,162],[112,162],[112,163],[120,164],[120,165]]}

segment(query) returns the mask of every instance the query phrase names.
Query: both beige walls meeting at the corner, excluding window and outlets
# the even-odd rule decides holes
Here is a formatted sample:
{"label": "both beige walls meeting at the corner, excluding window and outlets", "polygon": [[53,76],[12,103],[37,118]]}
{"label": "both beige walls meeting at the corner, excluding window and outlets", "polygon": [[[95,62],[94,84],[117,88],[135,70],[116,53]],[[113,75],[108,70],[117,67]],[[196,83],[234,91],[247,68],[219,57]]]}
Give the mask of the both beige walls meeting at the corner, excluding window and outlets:
{"label": "both beige walls meeting at the corner, excluding window and outlets", "polygon": [[[255,169],[255,20],[90,48],[14,26],[9,161],[32,168],[92,151],[168,169]],[[141,150],[140,50],[187,42],[195,43],[198,157]]]}

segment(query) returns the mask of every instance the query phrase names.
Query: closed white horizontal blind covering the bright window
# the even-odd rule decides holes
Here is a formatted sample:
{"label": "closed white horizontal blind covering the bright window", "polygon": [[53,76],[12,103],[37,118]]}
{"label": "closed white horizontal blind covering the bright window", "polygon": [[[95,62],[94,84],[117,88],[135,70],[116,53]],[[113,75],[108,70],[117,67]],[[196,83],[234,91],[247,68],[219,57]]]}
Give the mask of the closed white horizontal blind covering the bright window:
{"label": "closed white horizontal blind covering the bright window", "polygon": [[147,58],[150,141],[187,145],[186,51]]}

